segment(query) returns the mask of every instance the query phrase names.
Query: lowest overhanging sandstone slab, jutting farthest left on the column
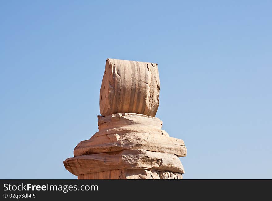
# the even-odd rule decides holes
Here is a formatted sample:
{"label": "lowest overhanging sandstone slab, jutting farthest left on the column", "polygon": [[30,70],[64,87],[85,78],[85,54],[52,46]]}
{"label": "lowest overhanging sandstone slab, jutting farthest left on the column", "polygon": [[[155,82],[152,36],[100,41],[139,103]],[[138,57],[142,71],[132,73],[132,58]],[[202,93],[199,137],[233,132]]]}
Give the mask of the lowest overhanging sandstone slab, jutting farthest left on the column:
{"label": "lowest overhanging sandstone slab, jutting farthest left on the column", "polygon": [[142,149],[75,156],[63,163],[74,175],[116,169],[150,169],[184,173],[181,161],[176,155]]}

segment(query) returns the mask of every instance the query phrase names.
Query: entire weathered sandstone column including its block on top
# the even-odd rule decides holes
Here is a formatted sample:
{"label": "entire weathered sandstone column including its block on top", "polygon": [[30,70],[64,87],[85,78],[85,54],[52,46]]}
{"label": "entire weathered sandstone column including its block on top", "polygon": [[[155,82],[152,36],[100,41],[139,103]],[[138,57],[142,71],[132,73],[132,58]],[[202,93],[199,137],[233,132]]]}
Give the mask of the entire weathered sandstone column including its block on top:
{"label": "entire weathered sandstone column including its block on top", "polygon": [[187,150],[155,117],[159,88],[157,64],[107,59],[99,131],[79,142],[65,168],[78,179],[182,179],[178,157]]}

